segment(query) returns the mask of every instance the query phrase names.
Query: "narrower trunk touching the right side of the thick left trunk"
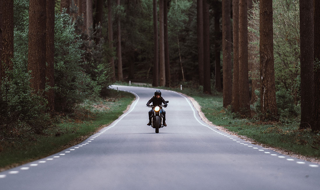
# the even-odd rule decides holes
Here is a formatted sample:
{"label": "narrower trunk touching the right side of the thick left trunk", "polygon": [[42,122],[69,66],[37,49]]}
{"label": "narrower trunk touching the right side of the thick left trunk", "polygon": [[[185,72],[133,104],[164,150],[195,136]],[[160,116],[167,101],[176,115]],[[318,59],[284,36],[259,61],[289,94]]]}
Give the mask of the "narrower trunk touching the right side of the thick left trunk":
{"label": "narrower trunk touching the right side of the thick left trunk", "polygon": [[48,107],[54,110],[54,0],[46,2],[46,50],[47,66],[45,69],[47,83],[51,87],[47,92]]}

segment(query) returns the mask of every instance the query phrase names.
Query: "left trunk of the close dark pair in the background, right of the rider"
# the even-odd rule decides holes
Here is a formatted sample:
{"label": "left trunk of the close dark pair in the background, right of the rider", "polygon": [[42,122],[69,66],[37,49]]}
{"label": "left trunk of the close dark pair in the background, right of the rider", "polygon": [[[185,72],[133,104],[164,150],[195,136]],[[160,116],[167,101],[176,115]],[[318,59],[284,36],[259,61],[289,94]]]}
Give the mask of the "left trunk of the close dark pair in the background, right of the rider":
{"label": "left trunk of the close dark pair in the background, right of the rider", "polygon": [[[198,43],[198,67],[199,85],[203,86],[203,0],[197,0],[197,43]],[[219,55],[220,56],[220,55]]]}

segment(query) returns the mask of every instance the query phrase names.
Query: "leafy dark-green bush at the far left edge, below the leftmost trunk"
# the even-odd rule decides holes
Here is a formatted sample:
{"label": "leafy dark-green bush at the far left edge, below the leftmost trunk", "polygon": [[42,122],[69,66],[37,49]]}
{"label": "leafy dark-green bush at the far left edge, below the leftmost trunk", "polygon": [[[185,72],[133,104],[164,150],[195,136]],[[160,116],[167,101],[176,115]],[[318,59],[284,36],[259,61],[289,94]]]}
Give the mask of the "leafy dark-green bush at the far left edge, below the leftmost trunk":
{"label": "leafy dark-green bush at the far left edge, below the leftmost trunk", "polygon": [[30,75],[23,65],[14,62],[6,70],[0,90],[0,136],[21,136],[25,132],[41,133],[51,125],[46,114],[46,100],[30,87]]}

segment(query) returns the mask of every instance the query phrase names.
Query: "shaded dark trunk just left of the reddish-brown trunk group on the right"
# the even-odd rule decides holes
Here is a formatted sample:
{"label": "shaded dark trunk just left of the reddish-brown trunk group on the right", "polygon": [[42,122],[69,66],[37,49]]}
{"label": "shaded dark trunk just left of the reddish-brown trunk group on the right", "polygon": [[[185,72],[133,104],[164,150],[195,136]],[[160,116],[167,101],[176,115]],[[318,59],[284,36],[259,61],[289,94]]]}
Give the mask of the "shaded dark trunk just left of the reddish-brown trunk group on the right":
{"label": "shaded dark trunk just left of the reddish-brown trunk group on the right", "polygon": [[215,59],[215,88],[218,92],[222,92],[222,82],[221,82],[221,66],[220,66],[220,13],[218,7],[214,10],[214,59]]}

